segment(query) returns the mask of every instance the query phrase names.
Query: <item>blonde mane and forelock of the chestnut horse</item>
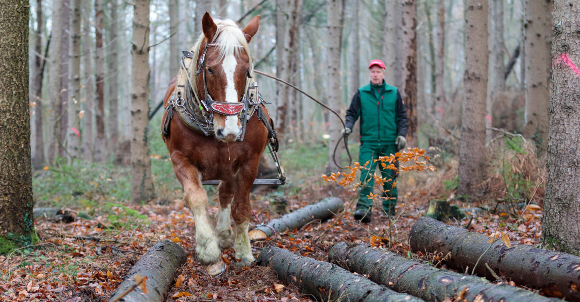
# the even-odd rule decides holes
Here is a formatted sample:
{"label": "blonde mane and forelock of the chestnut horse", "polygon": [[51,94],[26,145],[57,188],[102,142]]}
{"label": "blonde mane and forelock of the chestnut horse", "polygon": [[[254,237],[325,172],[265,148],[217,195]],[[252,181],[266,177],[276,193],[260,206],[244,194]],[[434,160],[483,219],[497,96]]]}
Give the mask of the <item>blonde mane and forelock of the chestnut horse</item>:
{"label": "blonde mane and forelock of the chestnut horse", "polygon": [[[215,47],[218,47],[218,61],[222,61],[225,57],[230,56],[230,54],[233,54],[234,56],[237,56],[238,51],[240,50],[244,50],[245,53],[248,54],[248,57],[251,57],[250,55],[250,49],[248,47],[248,42],[246,41],[245,38],[245,34],[244,32],[242,32],[242,30],[240,29],[240,27],[238,27],[237,24],[235,24],[235,22],[233,20],[230,19],[213,19],[213,22],[218,25],[218,30],[216,31],[215,35],[211,38],[208,38],[208,43],[212,43],[212,44],[216,44]],[[193,68],[190,68],[190,76],[191,78],[197,77],[197,76],[202,76],[201,73],[197,76],[195,76],[195,71],[197,71],[198,66],[197,66],[197,62],[200,58],[200,56],[203,54],[204,50],[201,49],[201,43],[204,42],[204,38],[205,35],[202,32],[201,35],[197,38],[197,40],[195,41],[195,44],[193,45],[193,47],[191,47],[191,49],[194,49],[194,54],[193,54]],[[253,70],[252,70],[253,73]],[[252,75],[253,76],[253,75]],[[193,83],[192,83],[193,84]],[[197,89],[197,85],[193,84],[191,85],[193,92],[195,94],[195,97],[200,100],[200,93]]]}

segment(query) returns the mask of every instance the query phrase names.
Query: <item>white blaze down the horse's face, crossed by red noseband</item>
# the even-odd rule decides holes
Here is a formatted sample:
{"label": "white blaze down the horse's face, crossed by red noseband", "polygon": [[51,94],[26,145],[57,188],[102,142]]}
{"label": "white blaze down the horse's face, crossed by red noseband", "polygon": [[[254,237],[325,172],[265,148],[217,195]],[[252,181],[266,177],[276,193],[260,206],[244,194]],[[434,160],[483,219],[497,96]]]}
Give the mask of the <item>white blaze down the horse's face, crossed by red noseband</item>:
{"label": "white blaze down the horse's face, crossed by red noseband", "polygon": [[[235,67],[238,65],[234,54],[225,57],[222,62],[222,68],[226,74],[226,102],[237,103],[238,92],[235,90],[234,73]],[[223,130],[219,133],[220,138],[230,141],[226,138],[234,138],[235,140],[241,132],[240,120],[237,115],[226,116]]]}

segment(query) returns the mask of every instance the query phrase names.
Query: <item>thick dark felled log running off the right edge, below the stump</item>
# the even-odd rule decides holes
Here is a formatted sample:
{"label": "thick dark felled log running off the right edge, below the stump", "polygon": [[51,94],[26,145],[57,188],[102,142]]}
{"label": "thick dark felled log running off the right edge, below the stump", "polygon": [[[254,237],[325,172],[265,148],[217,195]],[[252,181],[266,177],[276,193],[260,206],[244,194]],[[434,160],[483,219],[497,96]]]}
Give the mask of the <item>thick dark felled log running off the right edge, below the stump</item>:
{"label": "thick dark felled log running off the right edge, below the stump", "polygon": [[511,244],[507,248],[501,240],[485,252],[490,247],[489,240],[485,235],[427,217],[418,219],[409,233],[412,251],[444,255],[451,252],[451,260],[446,263],[456,270],[471,272],[483,254],[475,268],[477,275],[496,279],[485,267],[487,263],[496,274],[505,275],[517,285],[540,289],[546,296],[580,301],[580,257],[525,244]]}

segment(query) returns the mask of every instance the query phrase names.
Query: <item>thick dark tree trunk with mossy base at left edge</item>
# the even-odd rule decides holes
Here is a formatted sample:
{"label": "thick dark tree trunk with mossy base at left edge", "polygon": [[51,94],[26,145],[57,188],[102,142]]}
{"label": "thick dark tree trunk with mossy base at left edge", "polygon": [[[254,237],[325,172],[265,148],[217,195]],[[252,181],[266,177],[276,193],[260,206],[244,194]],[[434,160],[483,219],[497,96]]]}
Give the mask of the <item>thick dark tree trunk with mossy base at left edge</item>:
{"label": "thick dark tree trunk with mossy base at left edge", "polygon": [[[28,1],[0,0],[0,255],[34,244]],[[60,55],[60,53],[59,53]]]}

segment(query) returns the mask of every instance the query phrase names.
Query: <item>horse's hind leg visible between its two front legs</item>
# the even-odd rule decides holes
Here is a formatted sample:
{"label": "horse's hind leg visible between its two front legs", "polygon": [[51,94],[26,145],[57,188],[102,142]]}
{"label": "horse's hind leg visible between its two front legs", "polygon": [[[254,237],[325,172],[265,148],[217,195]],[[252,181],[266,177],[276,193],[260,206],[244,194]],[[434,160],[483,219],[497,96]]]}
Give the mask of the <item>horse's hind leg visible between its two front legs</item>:
{"label": "horse's hind leg visible between its two front legs", "polygon": [[231,198],[233,198],[233,188],[230,184],[225,182],[220,183],[218,187],[219,192],[219,208],[217,222],[216,222],[216,232],[218,233],[218,244],[220,248],[227,249],[231,246],[231,223],[230,223],[230,213],[231,213]]}

